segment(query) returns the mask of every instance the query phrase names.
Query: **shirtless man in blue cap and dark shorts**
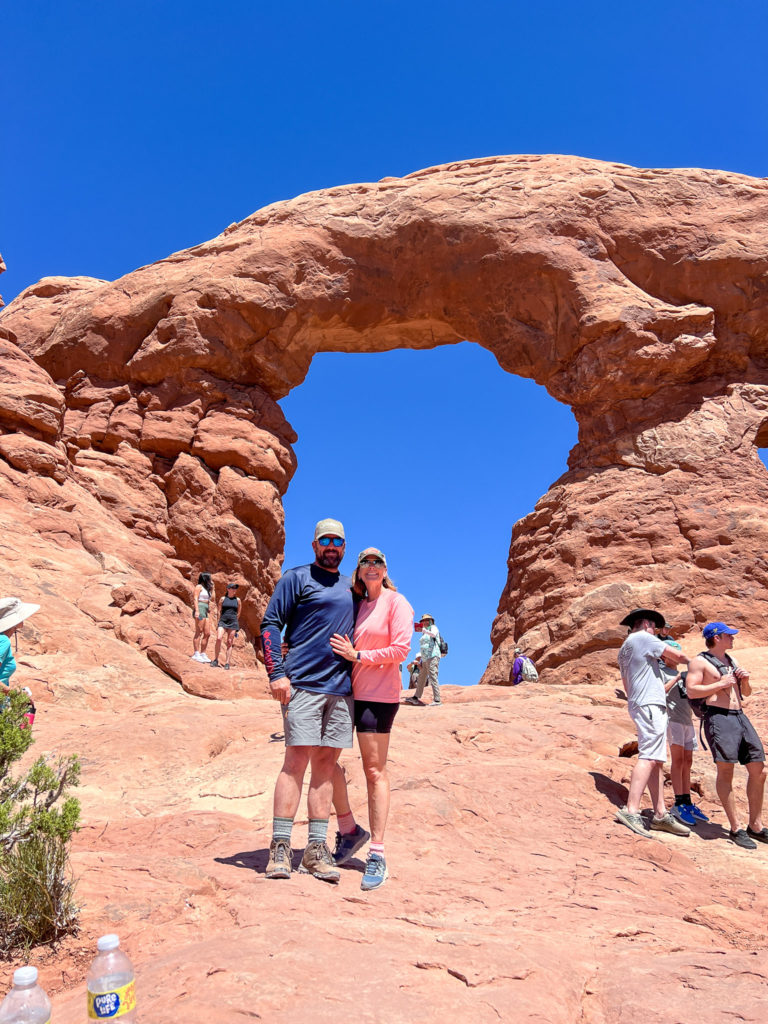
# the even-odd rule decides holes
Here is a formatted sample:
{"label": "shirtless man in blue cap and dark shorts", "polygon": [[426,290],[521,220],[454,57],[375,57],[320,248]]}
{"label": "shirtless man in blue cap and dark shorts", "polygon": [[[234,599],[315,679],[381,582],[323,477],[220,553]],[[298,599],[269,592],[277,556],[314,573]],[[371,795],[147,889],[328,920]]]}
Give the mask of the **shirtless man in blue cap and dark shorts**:
{"label": "shirtless man in blue cap and dark shorts", "polygon": [[[707,650],[688,666],[685,687],[691,700],[703,699],[703,731],[717,769],[716,788],[730,824],[730,841],[742,850],[768,843],[763,826],[765,751],[755,727],[744,714],[742,697],[752,693],[750,673],[730,653],[738,630],[725,623],[708,623],[701,631]],[[746,768],[746,803],[750,820],[741,825],[733,802],[733,766]],[[755,842],[757,840],[757,842]]]}

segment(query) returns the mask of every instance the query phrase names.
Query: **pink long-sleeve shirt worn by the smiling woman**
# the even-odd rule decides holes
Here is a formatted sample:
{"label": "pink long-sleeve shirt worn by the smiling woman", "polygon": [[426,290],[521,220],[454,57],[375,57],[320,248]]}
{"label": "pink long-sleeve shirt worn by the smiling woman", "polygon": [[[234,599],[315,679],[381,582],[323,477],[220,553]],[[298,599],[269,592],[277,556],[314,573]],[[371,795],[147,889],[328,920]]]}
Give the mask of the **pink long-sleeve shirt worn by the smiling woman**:
{"label": "pink long-sleeve shirt worn by the smiling woman", "polygon": [[375,601],[360,601],[354,624],[354,647],[360,652],[352,669],[357,700],[399,703],[400,665],[411,649],[414,609],[402,594],[382,590]]}

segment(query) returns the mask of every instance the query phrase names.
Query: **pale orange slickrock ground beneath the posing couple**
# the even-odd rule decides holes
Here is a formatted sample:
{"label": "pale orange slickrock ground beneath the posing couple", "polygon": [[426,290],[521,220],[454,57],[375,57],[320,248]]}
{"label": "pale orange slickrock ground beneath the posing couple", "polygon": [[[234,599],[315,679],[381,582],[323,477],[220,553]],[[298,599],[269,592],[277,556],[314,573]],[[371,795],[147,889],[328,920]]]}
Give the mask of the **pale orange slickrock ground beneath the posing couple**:
{"label": "pale orange slickrock ground beneath the posing couple", "polygon": [[[50,657],[27,658],[28,678],[50,679]],[[765,678],[765,652],[742,659]],[[692,1006],[702,1024],[763,1020],[768,848],[725,842],[701,754],[711,825],[647,840],[613,823],[633,731],[608,681],[449,687],[442,709],[401,708],[391,878],[364,894],[361,861],[338,887],[263,876],[276,707],[201,701],[152,671],[62,668],[39,700],[39,745],[85,765],[83,927],[42,970],[60,1024],[82,1021],[89,951],[108,931],[136,966],[144,1024],[667,1024]],[[768,698],[757,706],[765,731]],[[359,761],[344,762],[366,822]],[[303,816],[294,837],[298,858]]]}

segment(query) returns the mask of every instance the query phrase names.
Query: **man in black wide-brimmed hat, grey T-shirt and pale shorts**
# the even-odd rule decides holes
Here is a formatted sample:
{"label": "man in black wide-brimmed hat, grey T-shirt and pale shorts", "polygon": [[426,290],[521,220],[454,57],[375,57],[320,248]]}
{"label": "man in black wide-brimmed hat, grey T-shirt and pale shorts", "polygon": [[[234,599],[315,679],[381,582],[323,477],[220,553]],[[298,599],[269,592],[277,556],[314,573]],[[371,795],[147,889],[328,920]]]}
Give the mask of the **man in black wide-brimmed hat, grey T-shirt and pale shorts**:
{"label": "man in black wide-brimmed hat, grey T-shirt and pale shorts", "polygon": [[627,806],[616,811],[616,821],[638,836],[648,836],[640,815],[640,801],[647,786],[654,815],[650,827],[673,836],[689,836],[690,829],[667,811],[664,802],[664,763],[667,760],[667,697],[664,691],[659,658],[667,665],[687,664],[681,650],[675,650],[656,636],[665,627],[664,615],[651,608],[635,608],[622,626],[629,636],[618,651],[618,668],[627,693],[630,718],[637,729],[638,758],[632,769]]}

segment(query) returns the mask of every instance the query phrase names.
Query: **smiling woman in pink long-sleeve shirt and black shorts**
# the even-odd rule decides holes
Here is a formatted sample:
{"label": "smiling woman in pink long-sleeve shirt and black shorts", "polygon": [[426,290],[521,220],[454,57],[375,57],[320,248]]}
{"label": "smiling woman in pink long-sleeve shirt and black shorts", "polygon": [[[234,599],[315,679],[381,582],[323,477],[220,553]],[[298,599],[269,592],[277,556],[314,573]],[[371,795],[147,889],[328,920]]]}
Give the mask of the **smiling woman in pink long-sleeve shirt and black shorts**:
{"label": "smiling woman in pink long-sleeve shirt and black shorts", "polygon": [[354,663],[352,695],[354,726],[368,783],[371,835],[355,823],[349,807],[341,765],[334,775],[334,807],[339,822],[334,859],[343,864],[371,839],[360,889],[378,889],[387,878],[384,828],[389,814],[387,753],[389,733],[400,706],[400,665],[406,660],[414,633],[414,609],[387,575],[387,559],[378,548],[366,548],[357,558],[352,589],[359,598],[354,635],[335,634],[331,646]]}

